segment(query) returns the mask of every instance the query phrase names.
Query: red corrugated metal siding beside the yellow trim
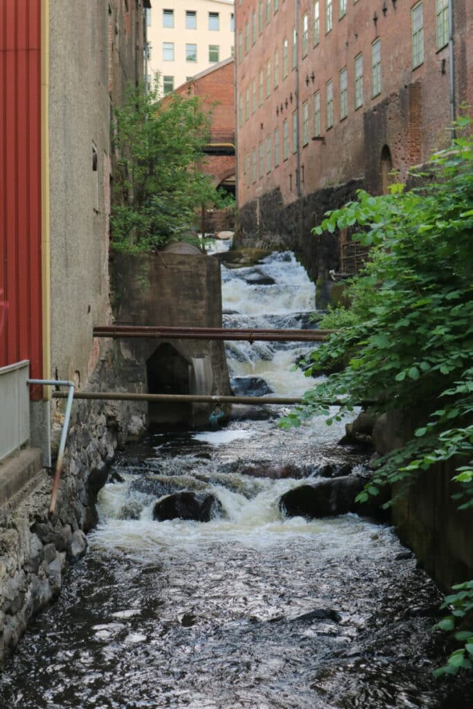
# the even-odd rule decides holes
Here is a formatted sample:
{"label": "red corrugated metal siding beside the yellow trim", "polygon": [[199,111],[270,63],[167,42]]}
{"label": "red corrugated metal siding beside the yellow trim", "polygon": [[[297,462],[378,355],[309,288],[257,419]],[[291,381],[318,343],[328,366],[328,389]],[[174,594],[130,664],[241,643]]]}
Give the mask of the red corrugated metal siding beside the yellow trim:
{"label": "red corrugated metal siding beside the yellow trim", "polygon": [[0,367],[40,378],[40,0],[0,0]]}

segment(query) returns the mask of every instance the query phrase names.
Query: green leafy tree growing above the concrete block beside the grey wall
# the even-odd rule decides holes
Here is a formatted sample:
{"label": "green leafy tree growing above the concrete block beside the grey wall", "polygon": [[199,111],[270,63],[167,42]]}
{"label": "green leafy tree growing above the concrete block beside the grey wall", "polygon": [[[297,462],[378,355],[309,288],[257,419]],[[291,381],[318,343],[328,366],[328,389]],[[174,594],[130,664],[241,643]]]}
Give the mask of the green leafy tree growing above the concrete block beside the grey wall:
{"label": "green leafy tree growing above the concrete block beside the grey wall", "polygon": [[111,245],[128,253],[186,238],[201,206],[224,201],[201,172],[210,119],[197,97],[138,86],[115,112],[118,155]]}

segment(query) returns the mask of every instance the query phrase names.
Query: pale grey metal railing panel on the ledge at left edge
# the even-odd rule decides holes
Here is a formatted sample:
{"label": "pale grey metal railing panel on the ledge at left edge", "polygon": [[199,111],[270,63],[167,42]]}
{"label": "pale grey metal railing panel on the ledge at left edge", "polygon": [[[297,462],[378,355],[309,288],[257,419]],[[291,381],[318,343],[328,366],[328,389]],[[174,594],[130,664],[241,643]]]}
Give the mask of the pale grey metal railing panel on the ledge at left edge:
{"label": "pale grey metal railing panel on the ledge at left edge", "polygon": [[30,437],[30,362],[0,367],[0,461]]}

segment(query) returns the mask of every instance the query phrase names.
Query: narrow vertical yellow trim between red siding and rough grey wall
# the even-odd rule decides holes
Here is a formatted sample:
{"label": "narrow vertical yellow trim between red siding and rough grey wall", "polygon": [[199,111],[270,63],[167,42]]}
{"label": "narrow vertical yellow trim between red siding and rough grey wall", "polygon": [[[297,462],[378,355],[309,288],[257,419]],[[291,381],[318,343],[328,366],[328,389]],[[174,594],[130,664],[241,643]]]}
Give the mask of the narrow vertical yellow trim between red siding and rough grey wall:
{"label": "narrow vertical yellow trim between red siding and rough grey wall", "polygon": [[[51,270],[50,270],[50,143],[49,53],[50,0],[41,2],[41,294],[43,303],[43,379],[51,376]],[[44,397],[51,398],[50,386]]]}

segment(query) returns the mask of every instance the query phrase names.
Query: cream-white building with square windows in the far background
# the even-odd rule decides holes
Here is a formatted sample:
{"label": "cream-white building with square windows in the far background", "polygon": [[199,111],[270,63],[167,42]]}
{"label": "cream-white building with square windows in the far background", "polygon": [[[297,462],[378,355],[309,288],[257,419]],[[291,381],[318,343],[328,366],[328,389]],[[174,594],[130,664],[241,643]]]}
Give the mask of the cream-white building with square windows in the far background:
{"label": "cream-white building with square windows in the far background", "polygon": [[163,93],[233,57],[233,0],[163,0],[148,10],[148,80]]}

